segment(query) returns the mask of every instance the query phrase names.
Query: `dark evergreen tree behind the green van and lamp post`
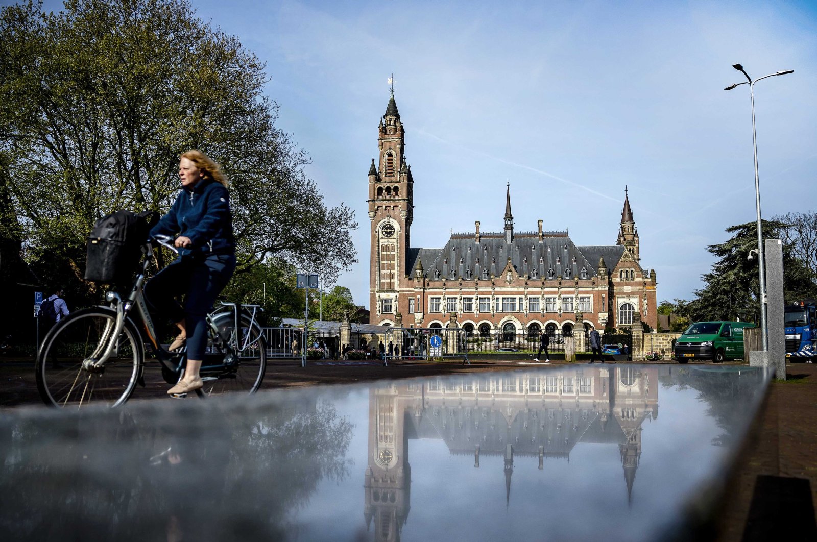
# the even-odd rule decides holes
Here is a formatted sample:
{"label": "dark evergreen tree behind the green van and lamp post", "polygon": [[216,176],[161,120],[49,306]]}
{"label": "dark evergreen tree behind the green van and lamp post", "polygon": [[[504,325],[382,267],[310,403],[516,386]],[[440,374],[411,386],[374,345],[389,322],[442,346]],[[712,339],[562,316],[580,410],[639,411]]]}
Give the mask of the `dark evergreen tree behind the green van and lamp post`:
{"label": "dark evergreen tree behind the green van and lamp post", "polygon": [[[780,229],[785,224],[763,220],[763,238],[779,238]],[[695,291],[697,299],[676,300],[675,312],[700,320],[745,320],[759,319],[759,277],[757,258],[748,260],[749,251],[757,248],[757,224],[739,224],[726,229],[734,235],[726,242],[708,247],[708,251],[720,260],[712,264],[712,271],[703,275],[705,287]],[[817,285],[810,278],[808,269],[792,253],[792,248],[784,246],[784,299],[788,302],[807,297],[815,297]]]}

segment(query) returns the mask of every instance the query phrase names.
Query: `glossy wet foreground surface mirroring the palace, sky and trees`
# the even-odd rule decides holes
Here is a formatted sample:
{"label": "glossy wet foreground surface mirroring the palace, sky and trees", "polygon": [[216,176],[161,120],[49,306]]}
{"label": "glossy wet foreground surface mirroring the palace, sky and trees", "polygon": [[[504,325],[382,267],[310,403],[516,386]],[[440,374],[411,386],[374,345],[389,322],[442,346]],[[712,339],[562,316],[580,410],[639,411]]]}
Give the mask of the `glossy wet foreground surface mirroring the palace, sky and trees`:
{"label": "glossy wet foreground surface mirroring the palace, sky and trees", "polygon": [[746,366],[574,365],[19,407],[0,420],[0,532],[692,540],[767,382]]}

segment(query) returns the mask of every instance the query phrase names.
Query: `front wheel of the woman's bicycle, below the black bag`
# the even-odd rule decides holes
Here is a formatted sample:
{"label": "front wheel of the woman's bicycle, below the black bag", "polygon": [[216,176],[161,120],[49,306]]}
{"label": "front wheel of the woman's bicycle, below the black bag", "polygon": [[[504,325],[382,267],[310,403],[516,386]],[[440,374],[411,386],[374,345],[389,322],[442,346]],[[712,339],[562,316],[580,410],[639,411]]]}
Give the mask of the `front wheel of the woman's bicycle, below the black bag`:
{"label": "front wheel of the woman's bicycle, below the black bag", "polygon": [[[142,342],[130,320],[112,338],[116,312],[96,307],[60,320],[42,341],[35,371],[42,401],[51,407],[117,407],[133,393],[142,362]],[[113,340],[110,357],[100,368],[83,367]],[[101,348],[104,348],[101,347]]]}

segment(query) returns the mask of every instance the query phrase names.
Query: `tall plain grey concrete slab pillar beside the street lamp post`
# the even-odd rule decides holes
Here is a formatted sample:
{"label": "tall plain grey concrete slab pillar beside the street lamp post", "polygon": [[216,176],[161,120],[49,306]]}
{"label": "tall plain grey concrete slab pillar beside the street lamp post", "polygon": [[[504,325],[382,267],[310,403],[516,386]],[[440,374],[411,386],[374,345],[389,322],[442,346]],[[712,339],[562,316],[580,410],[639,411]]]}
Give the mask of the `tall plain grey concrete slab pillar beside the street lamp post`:
{"label": "tall plain grey concrete slab pillar beside the street lamp post", "polygon": [[[783,300],[783,242],[766,239],[766,333],[768,352],[750,352],[749,365],[770,367],[775,378],[786,380],[786,325]],[[762,323],[761,323],[762,325]]]}

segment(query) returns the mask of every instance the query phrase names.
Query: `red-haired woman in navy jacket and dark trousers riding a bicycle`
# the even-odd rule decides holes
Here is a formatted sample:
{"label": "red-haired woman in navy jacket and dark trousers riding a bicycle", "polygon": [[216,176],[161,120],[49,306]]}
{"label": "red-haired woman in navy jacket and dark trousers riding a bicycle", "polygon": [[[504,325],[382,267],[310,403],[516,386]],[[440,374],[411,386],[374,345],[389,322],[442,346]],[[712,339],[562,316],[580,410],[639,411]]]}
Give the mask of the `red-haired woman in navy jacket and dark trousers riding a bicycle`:
{"label": "red-haired woman in navy jacket and dark trousers riding a bicycle", "polygon": [[[172,318],[179,335],[169,349],[187,344],[185,375],[168,394],[189,393],[203,386],[199,370],[207,343],[205,317],[235,270],[233,215],[227,179],[204,153],[189,150],[179,160],[181,192],[170,212],[150,236],[175,235],[179,256],[145,284],[152,313]],[[185,304],[174,299],[185,295]]]}

